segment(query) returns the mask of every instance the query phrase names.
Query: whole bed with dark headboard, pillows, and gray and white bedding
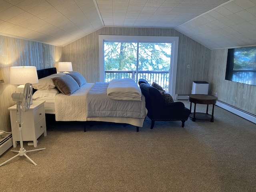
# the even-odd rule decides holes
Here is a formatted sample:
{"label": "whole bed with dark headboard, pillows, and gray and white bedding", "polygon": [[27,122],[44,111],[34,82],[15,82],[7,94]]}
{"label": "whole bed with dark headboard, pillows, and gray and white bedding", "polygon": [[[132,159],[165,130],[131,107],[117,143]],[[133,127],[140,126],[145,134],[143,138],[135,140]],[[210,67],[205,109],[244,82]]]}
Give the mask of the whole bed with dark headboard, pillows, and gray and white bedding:
{"label": "whole bed with dark headboard, pillows, and gray and white bedding", "polygon": [[[38,70],[37,72],[39,82],[33,84],[33,99],[46,101],[45,112],[53,115],[56,121],[130,124],[136,126],[137,132],[139,127],[143,126],[147,110],[145,98],[141,92],[139,94],[136,90],[129,91],[128,94],[116,94],[116,90],[129,89],[129,83],[132,84],[130,80],[128,80],[128,84],[123,84],[123,81],[119,80],[113,80],[110,83],[87,83],[83,77],[80,78],[82,75],[78,72],[72,72],[69,75],[57,74],[56,68]],[[68,81],[58,82],[64,78],[67,78]],[[78,85],[72,84],[73,80]],[[44,81],[47,82],[46,87],[42,86]],[[62,88],[63,84],[65,86],[70,84],[70,90]],[[126,87],[126,85],[128,86]],[[140,91],[139,87],[138,89]],[[84,131],[86,131],[86,124],[84,124]]]}

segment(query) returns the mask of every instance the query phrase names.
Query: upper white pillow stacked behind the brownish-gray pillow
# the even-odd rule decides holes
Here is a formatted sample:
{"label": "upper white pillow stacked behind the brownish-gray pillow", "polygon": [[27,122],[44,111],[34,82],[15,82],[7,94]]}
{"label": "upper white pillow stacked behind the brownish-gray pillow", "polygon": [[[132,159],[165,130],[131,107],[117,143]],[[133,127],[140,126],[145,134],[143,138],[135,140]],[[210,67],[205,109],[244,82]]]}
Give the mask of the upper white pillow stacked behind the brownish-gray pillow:
{"label": "upper white pillow stacked behind the brownish-gray pillow", "polygon": [[47,77],[41,78],[38,80],[38,83],[34,83],[32,84],[34,89],[37,90],[46,90],[46,89],[52,89],[55,88],[55,84],[54,82],[51,80],[51,78],[54,78],[56,76],[64,76],[66,75],[65,73],[56,73],[56,74],[52,74],[49,75]]}

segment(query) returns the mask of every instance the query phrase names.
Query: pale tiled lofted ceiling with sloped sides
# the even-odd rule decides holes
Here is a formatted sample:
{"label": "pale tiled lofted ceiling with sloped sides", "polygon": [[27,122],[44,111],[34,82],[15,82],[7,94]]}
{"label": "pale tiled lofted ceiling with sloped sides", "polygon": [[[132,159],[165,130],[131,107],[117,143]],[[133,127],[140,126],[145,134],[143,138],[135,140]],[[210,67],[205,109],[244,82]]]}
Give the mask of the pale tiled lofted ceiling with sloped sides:
{"label": "pale tiled lofted ceiling with sloped sides", "polygon": [[0,0],[0,35],[65,46],[104,26],[174,28],[210,49],[256,45],[256,0]]}

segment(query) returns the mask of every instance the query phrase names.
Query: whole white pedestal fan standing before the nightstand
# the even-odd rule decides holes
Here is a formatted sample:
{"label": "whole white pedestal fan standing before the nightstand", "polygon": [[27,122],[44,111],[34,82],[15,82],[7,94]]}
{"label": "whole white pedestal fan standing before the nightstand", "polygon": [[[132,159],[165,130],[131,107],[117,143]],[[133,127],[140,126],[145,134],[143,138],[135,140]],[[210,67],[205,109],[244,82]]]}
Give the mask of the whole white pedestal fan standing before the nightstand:
{"label": "whole white pedestal fan standing before the nightstand", "polygon": [[17,122],[19,124],[19,133],[20,133],[20,150],[16,151],[16,150],[11,150],[12,152],[16,152],[18,153],[17,155],[15,155],[14,157],[8,159],[7,161],[3,162],[2,164],[0,164],[0,166],[6,164],[7,162],[9,162],[10,160],[18,157],[18,156],[25,156],[26,158],[28,158],[28,160],[30,160],[30,162],[32,162],[34,165],[37,165],[32,159],[30,159],[26,153],[27,152],[32,152],[32,151],[40,151],[40,150],[44,150],[46,148],[41,148],[41,149],[34,149],[34,150],[25,150],[23,147],[23,140],[22,140],[22,127],[21,127],[21,110],[23,112],[27,112],[28,109],[30,108],[30,98],[32,98],[32,84],[31,83],[26,83],[25,87],[24,87],[24,91],[23,93],[13,93],[12,94],[12,100],[17,102]]}

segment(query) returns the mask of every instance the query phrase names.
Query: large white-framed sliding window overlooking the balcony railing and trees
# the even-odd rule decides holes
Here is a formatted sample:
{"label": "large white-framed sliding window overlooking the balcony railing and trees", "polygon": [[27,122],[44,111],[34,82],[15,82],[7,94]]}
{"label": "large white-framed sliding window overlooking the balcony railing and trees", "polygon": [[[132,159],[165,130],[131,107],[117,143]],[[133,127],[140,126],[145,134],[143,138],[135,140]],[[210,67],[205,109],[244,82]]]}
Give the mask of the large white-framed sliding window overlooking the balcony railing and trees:
{"label": "large white-framed sliding window overlooking the balcony railing and trees", "polygon": [[100,82],[140,78],[175,96],[178,37],[99,36]]}

